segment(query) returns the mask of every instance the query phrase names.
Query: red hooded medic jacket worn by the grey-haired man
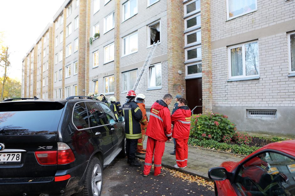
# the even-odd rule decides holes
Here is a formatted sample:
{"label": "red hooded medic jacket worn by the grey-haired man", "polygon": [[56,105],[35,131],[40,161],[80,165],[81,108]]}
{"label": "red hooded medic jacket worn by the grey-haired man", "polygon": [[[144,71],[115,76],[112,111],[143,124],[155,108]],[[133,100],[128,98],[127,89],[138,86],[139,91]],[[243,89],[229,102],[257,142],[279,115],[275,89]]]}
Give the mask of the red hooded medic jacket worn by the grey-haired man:
{"label": "red hooded medic jacket worn by the grey-haired man", "polygon": [[152,105],[146,135],[162,142],[171,138],[170,110],[163,100]]}

